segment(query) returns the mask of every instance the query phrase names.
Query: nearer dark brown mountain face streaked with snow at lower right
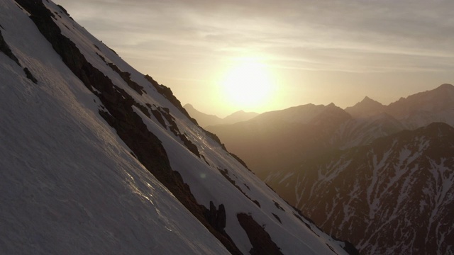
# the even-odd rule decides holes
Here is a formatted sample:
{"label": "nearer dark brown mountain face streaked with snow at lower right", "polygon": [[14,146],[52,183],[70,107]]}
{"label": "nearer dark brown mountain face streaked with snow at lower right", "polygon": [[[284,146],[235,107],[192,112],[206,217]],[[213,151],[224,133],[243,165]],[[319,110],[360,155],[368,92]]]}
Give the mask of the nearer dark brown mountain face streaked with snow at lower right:
{"label": "nearer dark brown mountain face streaked with snow at lower right", "polygon": [[454,128],[433,123],[312,159],[268,183],[361,254],[454,254],[453,152]]}

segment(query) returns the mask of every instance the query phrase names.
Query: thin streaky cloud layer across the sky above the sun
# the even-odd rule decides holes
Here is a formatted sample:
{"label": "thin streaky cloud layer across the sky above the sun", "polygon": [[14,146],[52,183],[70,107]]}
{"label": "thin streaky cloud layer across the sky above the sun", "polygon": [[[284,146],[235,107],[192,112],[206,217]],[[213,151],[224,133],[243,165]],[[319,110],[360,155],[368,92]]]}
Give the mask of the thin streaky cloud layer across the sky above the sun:
{"label": "thin streaky cloud layer across the sky above the sun", "polygon": [[150,57],[253,52],[281,67],[346,72],[445,71],[454,58],[454,1],[57,2],[111,47]]}

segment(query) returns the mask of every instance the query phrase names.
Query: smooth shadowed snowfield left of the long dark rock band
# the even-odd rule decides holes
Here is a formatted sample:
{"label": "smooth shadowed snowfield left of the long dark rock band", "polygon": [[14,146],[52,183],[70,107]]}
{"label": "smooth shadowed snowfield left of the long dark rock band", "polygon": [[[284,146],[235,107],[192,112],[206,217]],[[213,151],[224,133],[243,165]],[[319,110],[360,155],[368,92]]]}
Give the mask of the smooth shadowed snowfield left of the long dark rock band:
{"label": "smooth shadowed snowfield left of the long dark rock band", "polygon": [[[1,254],[228,254],[99,118],[99,101],[12,1],[0,53]],[[33,42],[33,43],[30,43]]]}

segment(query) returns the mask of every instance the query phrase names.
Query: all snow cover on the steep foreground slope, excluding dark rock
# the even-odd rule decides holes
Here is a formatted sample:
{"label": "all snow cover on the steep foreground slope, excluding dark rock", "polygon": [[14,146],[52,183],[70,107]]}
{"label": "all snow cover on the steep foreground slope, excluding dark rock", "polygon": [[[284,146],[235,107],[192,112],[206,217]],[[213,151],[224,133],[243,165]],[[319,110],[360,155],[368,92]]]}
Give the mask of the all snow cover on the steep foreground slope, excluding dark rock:
{"label": "all snow cover on the steep foreground slope, excluding dark rock", "polygon": [[[225,205],[226,232],[240,251],[248,254],[252,248],[236,218],[245,212],[265,227],[284,254],[345,254],[342,242],[294,217],[293,208],[158,94],[143,74],[51,1],[44,3],[58,13],[55,22],[62,34],[116,86],[143,105],[170,109],[179,131],[206,162],[153,115],[136,113],[162,141],[172,169],[189,184],[198,203]],[[13,54],[38,79],[33,84],[21,67],[0,53],[0,253],[228,254],[131,155],[98,114],[98,98],[62,63],[14,1],[0,2],[0,24]],[[131,89],[98,55],[130,72],[147,93]],[[228,170],[241,191],[220,169]]]}

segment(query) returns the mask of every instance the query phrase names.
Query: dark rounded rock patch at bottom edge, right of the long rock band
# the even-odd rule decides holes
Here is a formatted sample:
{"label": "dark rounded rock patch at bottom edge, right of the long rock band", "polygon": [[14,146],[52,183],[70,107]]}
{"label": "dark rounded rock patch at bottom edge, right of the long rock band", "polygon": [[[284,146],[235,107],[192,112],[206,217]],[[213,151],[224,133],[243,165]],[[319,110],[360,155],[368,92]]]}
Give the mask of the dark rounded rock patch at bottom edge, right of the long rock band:
{"label": "dark rounded rock patch at bottom edge, right of the long rock band", "polygon": [[250,244],[253,245],[253,248],[249,251],[251,255],[282,254],[280,248],[272,241],[270,234],[252,216],[245,213],[238,213],[236,217],[241,227],[248,234]]}

